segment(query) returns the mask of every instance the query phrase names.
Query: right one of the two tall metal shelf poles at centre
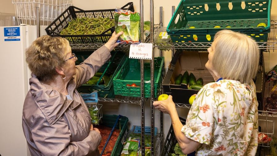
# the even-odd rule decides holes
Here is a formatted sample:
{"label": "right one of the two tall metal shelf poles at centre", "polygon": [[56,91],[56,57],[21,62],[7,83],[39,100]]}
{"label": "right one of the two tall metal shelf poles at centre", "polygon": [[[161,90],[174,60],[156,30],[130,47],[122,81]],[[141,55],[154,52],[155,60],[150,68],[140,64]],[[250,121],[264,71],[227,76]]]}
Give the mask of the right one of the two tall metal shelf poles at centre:
{"label": "right one of the two tall metal shelf poles at centre", "polygon": [[[150,0],[150,43],[154,43],[154,2]],[[154,129],[155,129],[155,111],[154,111],[154,48],[152,47],[152,60],[150,63],[151,68],[151,156],[155,155],[154,149]]]}

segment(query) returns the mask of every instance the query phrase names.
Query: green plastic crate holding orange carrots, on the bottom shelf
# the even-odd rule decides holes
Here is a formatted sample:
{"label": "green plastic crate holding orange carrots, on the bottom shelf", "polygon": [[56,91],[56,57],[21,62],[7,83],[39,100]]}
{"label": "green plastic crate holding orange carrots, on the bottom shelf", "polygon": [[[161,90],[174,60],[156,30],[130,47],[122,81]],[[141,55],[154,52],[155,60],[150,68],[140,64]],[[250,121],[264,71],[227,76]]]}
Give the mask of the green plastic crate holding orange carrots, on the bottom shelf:
{"label": "green plastic crate holding orange carrots, on the bottom shelf", "polygon": [[[103,114],[100,124],[110,127],[110,128],[113,128],[117,117],[118,117],[117,115]],[[114,144],[114,149],[111,153],[111,156],[118,156],[121,154],[121,151],[123,149],[123,143],[124,143],[125,137],[127,136],[127,133],[128,133],[128,125],[127,125],[128,121],[129,121],[129,119],[126,116],[121,116],[118,121],[118,124],[115,126],[116,129],[120,129],[120,133]]]}

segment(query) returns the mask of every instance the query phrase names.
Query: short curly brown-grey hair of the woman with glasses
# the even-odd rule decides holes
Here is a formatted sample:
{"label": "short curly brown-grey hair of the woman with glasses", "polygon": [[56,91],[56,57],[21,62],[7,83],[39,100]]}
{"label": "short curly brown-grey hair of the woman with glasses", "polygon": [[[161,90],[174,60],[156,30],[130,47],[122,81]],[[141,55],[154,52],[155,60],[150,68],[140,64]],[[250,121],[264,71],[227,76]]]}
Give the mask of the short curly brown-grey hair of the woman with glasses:
{"label": "short curly brown-grey hair of the woman with glasses", "polygon": [[31,72],[40,81],[49,83],[57,75],[55,68],[64,66],[68,50],[68,40],[62,37],[42,36],[27,48],[26,61]]}

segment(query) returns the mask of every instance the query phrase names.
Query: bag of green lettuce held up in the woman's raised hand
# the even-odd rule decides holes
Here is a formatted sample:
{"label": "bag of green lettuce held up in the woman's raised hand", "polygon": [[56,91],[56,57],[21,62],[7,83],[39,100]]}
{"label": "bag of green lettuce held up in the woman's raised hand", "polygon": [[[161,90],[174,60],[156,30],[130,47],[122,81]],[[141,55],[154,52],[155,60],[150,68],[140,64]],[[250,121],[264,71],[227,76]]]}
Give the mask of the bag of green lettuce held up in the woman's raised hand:
{"label": "bag of green lettuce held up in the woman's raised hand", "polygon": [[118,37],[119,44],[140,43],[140,16],[130,10],[115,9],[115,32],[124,33]]}

